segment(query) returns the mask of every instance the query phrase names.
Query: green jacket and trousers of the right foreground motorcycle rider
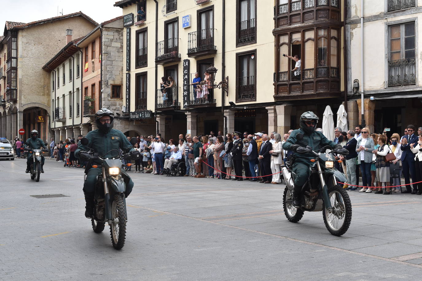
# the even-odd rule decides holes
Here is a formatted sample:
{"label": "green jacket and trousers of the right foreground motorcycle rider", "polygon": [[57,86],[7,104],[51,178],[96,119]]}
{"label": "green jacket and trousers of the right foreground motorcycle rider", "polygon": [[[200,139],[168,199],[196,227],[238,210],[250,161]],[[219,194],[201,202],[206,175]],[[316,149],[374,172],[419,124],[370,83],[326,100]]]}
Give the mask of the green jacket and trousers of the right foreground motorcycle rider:
{"label": "green jacket and trousers of the right foreground motorcycle rider", "polygon": [[[335,142],[327,139],[321,132],[314,131],[311,134],[306,134],[302,128],[292,131],[287,141],[283,144],[284,150],[290,150],[292,145],[300,145],[306,147],[303,143],[298,142],[297,134],[303,134],[302,142],[307,143],[312,150],[319,150],[322,147],[329,145],[335,147]],[[292,171],[296,174],[295,185],[303,186],[309,177],[309,167],[312,165],[311,159],[314,158],[310,153],[295,153],[295,163],[293,163]]]}

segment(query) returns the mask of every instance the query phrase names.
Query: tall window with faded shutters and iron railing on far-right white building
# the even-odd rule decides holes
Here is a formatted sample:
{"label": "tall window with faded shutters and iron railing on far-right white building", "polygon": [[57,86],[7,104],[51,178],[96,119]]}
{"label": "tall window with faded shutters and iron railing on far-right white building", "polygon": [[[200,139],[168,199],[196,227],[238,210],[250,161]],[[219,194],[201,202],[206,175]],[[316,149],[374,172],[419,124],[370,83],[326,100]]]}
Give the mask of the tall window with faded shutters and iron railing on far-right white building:
{"label": "tall window with faded shutters and iron railing on far-right white building", "polygon": [[415,23],[389,27],[388,86],[416,84]]}

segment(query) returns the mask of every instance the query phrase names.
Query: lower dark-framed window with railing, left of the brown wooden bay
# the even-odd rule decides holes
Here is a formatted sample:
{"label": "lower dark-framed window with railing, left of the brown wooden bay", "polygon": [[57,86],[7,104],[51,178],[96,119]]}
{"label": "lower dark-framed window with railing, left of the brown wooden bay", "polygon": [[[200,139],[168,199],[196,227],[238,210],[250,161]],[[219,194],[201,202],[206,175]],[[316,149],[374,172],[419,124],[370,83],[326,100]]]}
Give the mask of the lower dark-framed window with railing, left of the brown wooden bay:
{"label": "lower dark-framed window with railing, left of the brown wooden bay", "polygon": [[236,55],[236,101],[256,101],[256,50]]}

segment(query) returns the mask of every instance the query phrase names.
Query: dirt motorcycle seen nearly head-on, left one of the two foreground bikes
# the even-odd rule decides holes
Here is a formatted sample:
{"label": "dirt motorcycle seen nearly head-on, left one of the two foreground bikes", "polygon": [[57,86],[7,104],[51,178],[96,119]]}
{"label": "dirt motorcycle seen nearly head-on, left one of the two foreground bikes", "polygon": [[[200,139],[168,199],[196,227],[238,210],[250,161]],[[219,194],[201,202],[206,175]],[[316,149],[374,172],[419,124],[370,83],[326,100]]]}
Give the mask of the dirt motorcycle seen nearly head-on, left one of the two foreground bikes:
{"label": "dirt motorcycle seen nearly head-on, left one of the two foreground bikes", "polygon": [[[87,146],[87,138],[81,139],[81,144]],[[124,154],[115,158],[103,158],[103,156],[94,153],[92,148],[88,147],[89,160],[85,169],[85,179],[87,172],[91,168],[101,167],[102,172],[98,175],[94,192],[94,214],[91,219],[92,229],[95,233],[104,230],[106,222],[110,226],[111,243],[115,249],[122,249],[126,238],[126,199],[124,192],[126,184],[122,178],[122,160],[123,158],[133,157],[132,154]],[[106,154],[113,150],[108,151]],[[116,150],[119,153],[118,150]],[[139,152],[138,152],[139,153]],[[129,165],[129,164],[128,164]]]}

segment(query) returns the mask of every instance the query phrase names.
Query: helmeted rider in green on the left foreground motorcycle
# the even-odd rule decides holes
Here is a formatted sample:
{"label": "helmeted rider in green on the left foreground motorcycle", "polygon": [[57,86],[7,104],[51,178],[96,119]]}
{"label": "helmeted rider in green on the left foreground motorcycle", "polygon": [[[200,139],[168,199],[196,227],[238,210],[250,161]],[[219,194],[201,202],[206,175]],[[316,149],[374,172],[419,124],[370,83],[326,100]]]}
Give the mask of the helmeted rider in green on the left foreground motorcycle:
{"label": "helmeted rider in green on the left foreground motorcycle", "polygon": [[[97,124],[98,129],[94,131],[89,131],[86,138],[89,140],[87,146],[79,145],[76,149],[74,155],[76,158],[79,158],[81,161],[88,161],[91,156],[87,153],[89,147],[91,147],[96,153],[98,153],[103,158],[112,158],[119,154],[119,148],[122,149],[125,153],[133,153],[136,155],[138,153],[135,148],[127,140],[126,136],[122,131],[113,129],[113,120],[114,113],[107,108],[101,108],[95,113],[95,123]],[[112,150],[113,151],[110,151]],[[117,150],[117,151],[116,151]],[[139,154],[139,153],[138,153]],[[138,155],[139,157],[139,155]],[[99,174],[101,174],[102,169],[100,167],[91,168],[87,173],[87,179],[84,182],[84,195],[85,195],[85,217],[91,218],[93,215],[94,209],[94,191],[95,191],[95,179]],[[129,175],[121,170],[123,180],[126,184],[125,197],[127,197],[133,188],[133,181]]]}

